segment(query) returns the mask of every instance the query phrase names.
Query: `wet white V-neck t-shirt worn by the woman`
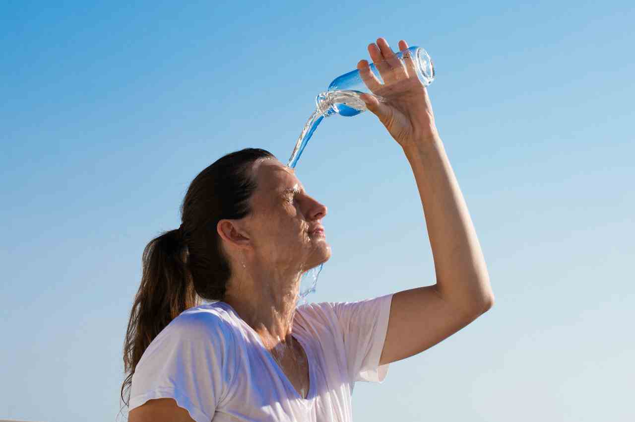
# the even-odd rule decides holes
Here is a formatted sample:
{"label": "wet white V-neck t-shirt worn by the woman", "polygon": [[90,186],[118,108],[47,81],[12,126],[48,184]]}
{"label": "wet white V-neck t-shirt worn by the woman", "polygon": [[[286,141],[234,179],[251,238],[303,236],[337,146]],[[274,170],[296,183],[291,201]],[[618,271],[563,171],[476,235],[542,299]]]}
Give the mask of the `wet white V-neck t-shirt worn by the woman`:
{"label": "wet white V-neck t-shirt worn by the woman", "polygon": [[190,308],[150,343],[132,378],[130,409],[171,397],[196,422],[352,422],[356,381],[379,366],[392,294],[298,306],[292,336],[309,361],[302,398],[258,334],[225,302]]}

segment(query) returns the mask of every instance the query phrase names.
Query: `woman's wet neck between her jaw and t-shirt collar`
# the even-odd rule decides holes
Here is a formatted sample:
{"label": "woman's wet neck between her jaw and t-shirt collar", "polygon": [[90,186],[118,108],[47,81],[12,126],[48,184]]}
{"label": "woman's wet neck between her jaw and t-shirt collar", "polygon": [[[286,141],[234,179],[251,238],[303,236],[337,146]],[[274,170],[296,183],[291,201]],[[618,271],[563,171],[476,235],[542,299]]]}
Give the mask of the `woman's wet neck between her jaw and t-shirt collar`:
{"label": "woman's wet neck between her jaw and t-shirt collar", "polygon": [[302,273],[265,271],[253,264],[241,270],[236,278],[229,280],[224,301],[257,332],[270,350],[279,343],[291,341]]}

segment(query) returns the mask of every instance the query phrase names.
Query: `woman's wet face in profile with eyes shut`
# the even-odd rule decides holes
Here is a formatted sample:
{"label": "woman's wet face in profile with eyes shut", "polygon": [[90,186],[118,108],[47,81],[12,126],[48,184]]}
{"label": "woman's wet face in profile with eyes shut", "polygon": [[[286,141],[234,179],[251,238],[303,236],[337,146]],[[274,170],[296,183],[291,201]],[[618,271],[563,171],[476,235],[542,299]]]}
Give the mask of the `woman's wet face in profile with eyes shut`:
{"label": "woman's wet face in profile with eyes shut", "polygon": [[253,164],[257,189],[246,217],[250,240],[260,260],[281,271],[307,271],[328,261],[331,247],[321,228],[326,207],[304,190],[293,168],[274,159]]}

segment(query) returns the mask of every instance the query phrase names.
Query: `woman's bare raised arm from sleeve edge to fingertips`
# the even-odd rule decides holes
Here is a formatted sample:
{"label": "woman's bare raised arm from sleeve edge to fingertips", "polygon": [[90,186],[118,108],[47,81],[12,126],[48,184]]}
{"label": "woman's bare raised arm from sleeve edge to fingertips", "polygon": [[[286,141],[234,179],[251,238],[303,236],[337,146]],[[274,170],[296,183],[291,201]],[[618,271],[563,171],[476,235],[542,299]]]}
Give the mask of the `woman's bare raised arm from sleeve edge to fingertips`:
{"label": "woman's bare raised arm from sleeve edge to fingertips", "polygon": [[[408,44],[399,42],[406,50]],[[434,257],[436,284],[394,294],[380,364],[420,353],[490,309],[490,277],[467,205],[434,123],[432,105],[414,65],[396,58],[383,38],[368,46],[384,85],[368,62],[358,69],[372,95],[362,99],[402,147],[412,168]]]}

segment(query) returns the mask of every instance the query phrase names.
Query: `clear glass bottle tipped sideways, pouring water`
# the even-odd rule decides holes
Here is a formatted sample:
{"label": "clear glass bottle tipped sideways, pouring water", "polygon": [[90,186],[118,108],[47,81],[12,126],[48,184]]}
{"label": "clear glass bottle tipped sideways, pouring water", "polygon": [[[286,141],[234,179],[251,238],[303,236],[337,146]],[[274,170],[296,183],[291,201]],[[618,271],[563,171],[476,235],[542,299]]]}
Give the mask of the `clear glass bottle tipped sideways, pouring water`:
{"label": "clear glass bottle tipped sideways, pouring water", "polygon": [[[406,57],[410,57],[415,64],[417,77],[421,83],[424,86],[430,85],[434,81],[434,65],[427,51],[417,46],[411,46],[408,50],[399,51],[396,56],[401,62],[404,61],[403,56],[406,51],[408,52]],[[381,67],[382,63],[378,64],[378,66]],[[370,63],[370,69],[377,79],[384,83],[382,76],[377,71],[377,65]],[[361,79],[358,69],[355,69],[333,79],[328,89],[319,93],[318,97],[316,97],[316,106],[323,116],[331,116],[331,114],[336,113],[340,114],[340,116],[355,116],[366,110],[366,104],[359,99],[359,93],[363,92],[371,93]]]}

